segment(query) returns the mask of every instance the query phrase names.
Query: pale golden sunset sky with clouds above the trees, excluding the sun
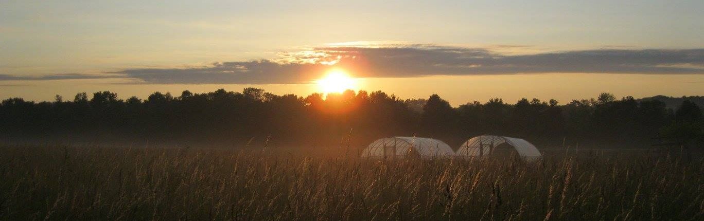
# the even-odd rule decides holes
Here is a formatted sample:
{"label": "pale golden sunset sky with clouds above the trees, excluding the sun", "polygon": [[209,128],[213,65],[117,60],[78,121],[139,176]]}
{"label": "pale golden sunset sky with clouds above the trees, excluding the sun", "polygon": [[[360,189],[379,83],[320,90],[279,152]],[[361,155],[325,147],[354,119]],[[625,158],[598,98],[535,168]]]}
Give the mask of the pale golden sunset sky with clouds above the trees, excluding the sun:
{"label": "pale golden sunset sky with clouds above the trees, excluding the sun", "polygon": [[704,1],[0,1],[0,98],[704,95]]}

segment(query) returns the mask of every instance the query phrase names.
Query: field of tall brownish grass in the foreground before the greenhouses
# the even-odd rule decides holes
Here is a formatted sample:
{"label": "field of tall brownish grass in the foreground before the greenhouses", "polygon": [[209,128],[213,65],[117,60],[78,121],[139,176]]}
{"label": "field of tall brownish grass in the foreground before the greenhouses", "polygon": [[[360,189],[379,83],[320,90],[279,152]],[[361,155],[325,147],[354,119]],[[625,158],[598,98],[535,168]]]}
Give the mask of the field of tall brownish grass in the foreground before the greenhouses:
{"label": "field of tall brownish grass in the foreground before the greenhouses", "polygon": [[0,220],[704,219],[704,160],[686,152],[351,152],[1,146]]}

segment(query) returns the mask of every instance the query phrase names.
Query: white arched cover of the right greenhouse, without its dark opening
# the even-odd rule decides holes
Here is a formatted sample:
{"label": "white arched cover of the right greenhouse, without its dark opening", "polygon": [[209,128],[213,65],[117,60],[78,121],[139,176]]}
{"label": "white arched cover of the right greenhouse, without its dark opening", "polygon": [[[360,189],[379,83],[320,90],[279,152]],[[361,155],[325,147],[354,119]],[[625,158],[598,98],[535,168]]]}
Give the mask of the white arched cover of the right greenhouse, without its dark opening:
{"label": "white arched cover of the right greenhouse, without its dark opening", "polygon": [[[493,146],[498,146],[503,143],[507,143],[513,146],[518,152],[518,155],[524,158],[540,158],[542,155],[540,151],[535,148],[533,144],[524,139],[514,138],[514,137],[503,137],[496,135],[480,135],[477,137],[472,137],[465,141],[460,149],[457,150],[457,156],[485,156],[489,154],[489,146],[482,146],[482,144],[491,144]],[[483,151],[480,152],[480,148]]]}

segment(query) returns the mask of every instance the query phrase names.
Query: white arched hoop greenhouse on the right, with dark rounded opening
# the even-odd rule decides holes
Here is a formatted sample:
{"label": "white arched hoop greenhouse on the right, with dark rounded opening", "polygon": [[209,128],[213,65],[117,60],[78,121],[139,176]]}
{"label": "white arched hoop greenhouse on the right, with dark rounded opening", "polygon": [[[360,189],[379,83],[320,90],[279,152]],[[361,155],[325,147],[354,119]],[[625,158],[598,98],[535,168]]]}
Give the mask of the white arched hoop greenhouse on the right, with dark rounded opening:
{"label": "white arched hoop greenhouse on the right, with dark rounded opening", "polygon": [[[513,147],[515,152],[509,146]],[[512,152],[518,153],[518,156],[526,160],[536,160],[543,157],[533,144],[524,139],[496,135],[479,135],[468,139],[460,146],[455,156],[482,157],[505,155]]]}

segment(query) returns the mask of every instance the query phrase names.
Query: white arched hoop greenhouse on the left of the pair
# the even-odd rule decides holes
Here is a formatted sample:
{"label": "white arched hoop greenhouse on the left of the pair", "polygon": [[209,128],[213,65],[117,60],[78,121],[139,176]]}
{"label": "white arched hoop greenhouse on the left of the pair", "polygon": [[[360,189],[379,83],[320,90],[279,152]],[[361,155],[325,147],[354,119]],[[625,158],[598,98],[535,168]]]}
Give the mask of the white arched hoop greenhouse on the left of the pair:
{"label": "white arched hoop greenhouse on the left of the pair", "polygon": [[413,155],[420,158],[451,158],[455,152],[445,142],[425,137],[384,137],[373,141],[362,151],[363,158],[403,158]]}

